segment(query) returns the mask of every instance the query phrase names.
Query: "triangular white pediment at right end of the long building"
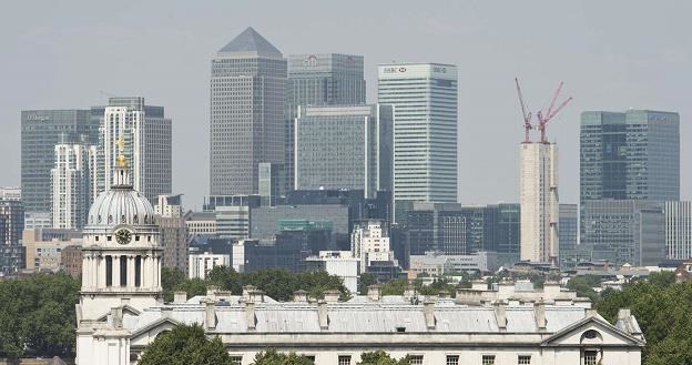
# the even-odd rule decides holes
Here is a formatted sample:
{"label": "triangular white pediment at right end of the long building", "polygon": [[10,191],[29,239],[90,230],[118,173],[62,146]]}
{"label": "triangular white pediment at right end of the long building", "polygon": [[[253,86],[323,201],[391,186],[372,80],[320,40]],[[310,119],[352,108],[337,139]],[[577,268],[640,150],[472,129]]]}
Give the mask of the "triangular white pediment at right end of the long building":
{"label": "triangular white pediment at right end of the long building", "polygon": [[556,332],[541,346],[644,346],[644,341],[619,329],[600,316],[589,316]]}

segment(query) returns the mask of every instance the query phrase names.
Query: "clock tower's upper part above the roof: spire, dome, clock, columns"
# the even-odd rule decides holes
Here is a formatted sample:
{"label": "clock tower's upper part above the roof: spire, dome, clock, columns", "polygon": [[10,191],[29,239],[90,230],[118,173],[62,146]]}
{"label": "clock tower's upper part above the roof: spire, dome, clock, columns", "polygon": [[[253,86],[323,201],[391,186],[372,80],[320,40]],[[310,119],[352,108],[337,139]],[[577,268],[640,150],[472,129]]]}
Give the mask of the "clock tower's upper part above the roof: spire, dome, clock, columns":
{"label": "clock tower's upper part above the roof: spire, dome, clock, columns", "polygon": [[161,253],[154,209],[132,186],[120,142],[111,189],[89,210],[83,230],[81,320],[99,321],[112,307],[162,304]]}

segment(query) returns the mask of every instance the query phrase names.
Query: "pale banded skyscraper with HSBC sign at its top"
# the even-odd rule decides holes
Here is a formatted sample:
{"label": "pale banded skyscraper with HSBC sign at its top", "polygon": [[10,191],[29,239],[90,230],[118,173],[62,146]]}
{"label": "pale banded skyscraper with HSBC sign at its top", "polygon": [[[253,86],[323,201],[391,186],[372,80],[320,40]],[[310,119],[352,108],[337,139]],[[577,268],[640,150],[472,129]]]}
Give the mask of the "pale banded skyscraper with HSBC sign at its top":
{"label": "pale banded skyscraper with HSBC sign at its top", "polygon": [[394,105],[395,220],[403,202],[457,201],[457,68],[383,64],[378,102]]}

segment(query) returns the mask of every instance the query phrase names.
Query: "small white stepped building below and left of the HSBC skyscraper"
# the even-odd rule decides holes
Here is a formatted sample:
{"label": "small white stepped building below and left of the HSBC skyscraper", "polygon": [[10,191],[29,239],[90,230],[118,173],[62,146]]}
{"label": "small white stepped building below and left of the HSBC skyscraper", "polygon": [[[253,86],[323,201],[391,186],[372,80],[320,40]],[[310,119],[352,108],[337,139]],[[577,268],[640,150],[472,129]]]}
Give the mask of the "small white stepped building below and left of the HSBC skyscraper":
{"label": "small white stepped building below and left of the HSBC skyscraper", "polygon": [[389,250],[389,227],[384,221],[357,222],[350,233],[350,252],[359,261],[360,273],[365,273],[374,261],[393,261]]}

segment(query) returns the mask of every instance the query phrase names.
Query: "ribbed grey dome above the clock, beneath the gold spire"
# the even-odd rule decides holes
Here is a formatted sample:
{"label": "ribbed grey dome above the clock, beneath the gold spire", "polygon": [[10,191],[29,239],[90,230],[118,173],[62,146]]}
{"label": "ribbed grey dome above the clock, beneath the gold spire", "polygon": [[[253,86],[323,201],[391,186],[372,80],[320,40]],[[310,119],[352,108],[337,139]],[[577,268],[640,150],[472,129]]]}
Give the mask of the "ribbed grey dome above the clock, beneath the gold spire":
{"label": "ribbed grey dome above the clock, beneath the gold spire", "polygon": [[99,194],[89,210],[88,225],[112,227],[120,224],[154,224],[154,209],[149,200],[132,189],[111,189]]}

